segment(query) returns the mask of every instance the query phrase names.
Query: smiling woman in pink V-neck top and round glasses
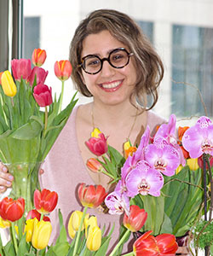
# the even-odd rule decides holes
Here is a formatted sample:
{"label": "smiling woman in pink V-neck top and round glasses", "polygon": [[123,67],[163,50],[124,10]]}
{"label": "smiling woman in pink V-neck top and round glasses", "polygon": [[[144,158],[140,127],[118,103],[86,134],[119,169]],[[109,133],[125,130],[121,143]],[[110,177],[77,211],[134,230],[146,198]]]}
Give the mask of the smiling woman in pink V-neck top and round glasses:
{"label": "smiling woman in pink V-neck top and round glasses", "polygon": [[[41,176],[42,187],[59,194],[58,208],[66,225],[70,213],[80,210],[74,197],[79,183],[101,183],[110,191],[109,178],[90,172],[85,165],[95,157],[85,145],[91,131],[98,127],[108,137],[107,142],[123,154],[127,140],[136,145],[147,125],[154,131],[164,122],[150,111],[158,100],[157,88],[164,75],[162,61],[128,15],[112,9],[92,12],[74,34],[70,61],[74,84],[83,96],[93,96],[93,102],[74,108],[43,164]],[[153,96],[148,110],[147,95]],[[10,186],[12,177],[5,167],[0,177],[3,191]],[[90,213],[97,216],[101,227],[116,224],[111,246],[116,244],[119,217],[101,210]],[[53,223],[57,221],[57,211],[50,218]],[[55,239],[59,227],[53,226]]]}

